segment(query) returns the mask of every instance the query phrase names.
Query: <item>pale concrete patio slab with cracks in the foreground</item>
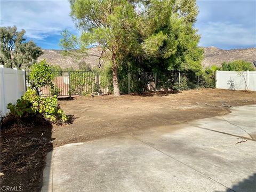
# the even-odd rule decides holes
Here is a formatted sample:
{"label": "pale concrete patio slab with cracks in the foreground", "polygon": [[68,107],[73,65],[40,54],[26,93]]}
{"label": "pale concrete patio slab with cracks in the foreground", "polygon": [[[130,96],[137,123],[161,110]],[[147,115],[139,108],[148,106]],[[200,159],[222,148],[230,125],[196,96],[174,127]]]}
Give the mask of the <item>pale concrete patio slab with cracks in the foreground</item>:
{"label": "pale concrete patio slab with cracks in the foreground", "polygon": [[42,191],[255,191],[255,111],[55,148]]}

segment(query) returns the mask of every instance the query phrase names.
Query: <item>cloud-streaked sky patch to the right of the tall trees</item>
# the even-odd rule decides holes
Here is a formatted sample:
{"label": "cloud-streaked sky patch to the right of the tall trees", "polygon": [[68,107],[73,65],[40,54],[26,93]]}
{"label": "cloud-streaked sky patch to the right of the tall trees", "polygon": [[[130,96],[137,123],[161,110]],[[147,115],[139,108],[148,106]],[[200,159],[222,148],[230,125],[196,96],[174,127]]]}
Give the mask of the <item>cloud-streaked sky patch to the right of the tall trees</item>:
{"label": "cloud-streaked sky patch to the right of the tall trees", "polygon": [[201,46],[222,49],[255,47],[255,1],[197,1]]}

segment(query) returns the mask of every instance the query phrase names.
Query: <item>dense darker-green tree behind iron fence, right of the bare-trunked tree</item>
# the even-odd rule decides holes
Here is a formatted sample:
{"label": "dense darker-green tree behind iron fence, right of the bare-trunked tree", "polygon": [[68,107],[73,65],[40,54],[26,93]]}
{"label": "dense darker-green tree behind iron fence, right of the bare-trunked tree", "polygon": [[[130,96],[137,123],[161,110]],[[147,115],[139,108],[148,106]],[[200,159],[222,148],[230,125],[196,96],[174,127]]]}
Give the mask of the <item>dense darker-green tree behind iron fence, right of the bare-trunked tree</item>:
{"label": "dense darker-green tree behind iron fence, right of the bare-trunked tree", "polygon": [[[144,42],[157,47],[155,54],[143,54],[142,69],[154,72],[202,70],[203,50],[197,47],[200,36],[193,28],[196,21],[195,1],[150,1],[147,19],[142,27],[147,29]],[[145,44],[145,43],[142,43]],[[146,51],[147,53],[147,51]]]}

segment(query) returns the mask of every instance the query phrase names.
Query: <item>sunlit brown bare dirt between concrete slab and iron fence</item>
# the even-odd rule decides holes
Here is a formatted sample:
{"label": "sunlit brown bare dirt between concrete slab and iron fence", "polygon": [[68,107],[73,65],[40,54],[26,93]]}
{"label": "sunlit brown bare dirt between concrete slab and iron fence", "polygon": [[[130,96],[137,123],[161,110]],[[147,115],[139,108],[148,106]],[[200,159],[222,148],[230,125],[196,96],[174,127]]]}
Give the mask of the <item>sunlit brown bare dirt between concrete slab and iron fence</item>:
{"label": "sunlit brown bare dirt between concrete slab and iron fence", "polygon": [[171,94],[112,95],[59,101],[73,124],[53,126],[53,146],[83,142],[149,127],[225,115],[230,106],[256,103],[256,92],[220,89]]}

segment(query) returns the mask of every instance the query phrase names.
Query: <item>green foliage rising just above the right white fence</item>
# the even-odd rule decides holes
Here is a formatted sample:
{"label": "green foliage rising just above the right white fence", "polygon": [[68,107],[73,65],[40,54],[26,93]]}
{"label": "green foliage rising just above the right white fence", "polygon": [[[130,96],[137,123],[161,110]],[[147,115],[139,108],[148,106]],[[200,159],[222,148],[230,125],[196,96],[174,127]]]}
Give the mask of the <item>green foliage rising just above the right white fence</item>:
{"label": "green foliage rising just above the right white fence", "polygon": [[244,61],[244,60],[236,60],[231,62],[223,62],[222,70],[224,71],[254,71],[255,68],[253,67],[251,62]]}

